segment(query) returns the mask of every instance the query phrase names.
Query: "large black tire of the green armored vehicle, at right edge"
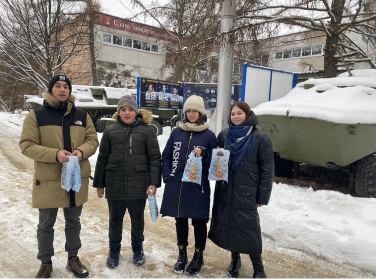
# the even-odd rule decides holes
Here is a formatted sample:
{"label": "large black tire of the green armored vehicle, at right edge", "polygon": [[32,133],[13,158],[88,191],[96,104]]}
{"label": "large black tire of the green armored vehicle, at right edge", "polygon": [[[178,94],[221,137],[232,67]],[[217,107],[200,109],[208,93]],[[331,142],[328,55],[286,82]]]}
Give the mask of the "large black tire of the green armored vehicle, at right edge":
{"label": "large black tire of the green armored vehicle, at right edge", "polygon": [[354,178],[355,192],[361,197],[376,197],[376,153],[360,159]]}

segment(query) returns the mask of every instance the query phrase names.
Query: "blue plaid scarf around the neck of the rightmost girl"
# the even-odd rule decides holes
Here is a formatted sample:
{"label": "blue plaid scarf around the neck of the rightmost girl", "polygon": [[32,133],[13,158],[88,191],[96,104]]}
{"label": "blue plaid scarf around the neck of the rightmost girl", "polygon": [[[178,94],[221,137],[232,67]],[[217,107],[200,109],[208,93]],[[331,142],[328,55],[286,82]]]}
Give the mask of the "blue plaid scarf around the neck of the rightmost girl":
{"label": "blue plaid scarf around the neck of the rightmost girl", "polygon": [[251,126],[229,126],[225,148],[230,150],[230,167],[233,174],[242,169],[255,146],[255,136]]}

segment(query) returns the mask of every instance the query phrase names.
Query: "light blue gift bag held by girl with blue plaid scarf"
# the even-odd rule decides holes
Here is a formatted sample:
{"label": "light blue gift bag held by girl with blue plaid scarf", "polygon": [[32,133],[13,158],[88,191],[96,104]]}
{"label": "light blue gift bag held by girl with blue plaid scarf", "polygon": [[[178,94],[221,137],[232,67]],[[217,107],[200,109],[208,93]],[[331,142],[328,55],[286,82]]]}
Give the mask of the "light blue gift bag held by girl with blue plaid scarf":
{"label": "light blue gift bag held by girl with blue plaid scarf", "polygon": [[[218,152],[223,155],[218,155]],[[225,180],[229,178],[229,159],[230,151],[224,148],[214,148],[212,152],[212,159],[210,161],[209,180]]]}

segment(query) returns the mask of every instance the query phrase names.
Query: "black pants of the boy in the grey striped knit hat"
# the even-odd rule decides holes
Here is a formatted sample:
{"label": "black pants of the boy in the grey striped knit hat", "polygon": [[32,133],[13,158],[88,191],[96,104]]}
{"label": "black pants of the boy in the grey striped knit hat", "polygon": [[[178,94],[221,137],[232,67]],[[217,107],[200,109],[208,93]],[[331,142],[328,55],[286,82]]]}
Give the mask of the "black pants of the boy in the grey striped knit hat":
{"label": "black pants of the boy in the grey striped knit hat", "polygon": [[108,238],[110,243],[120,243],[123,234],[123,220],[128,208],[131,222],[132,246],[141,244],[144,240],[145,227],[144,209],[146,199],[107,199],[110,221],[108,225]]}

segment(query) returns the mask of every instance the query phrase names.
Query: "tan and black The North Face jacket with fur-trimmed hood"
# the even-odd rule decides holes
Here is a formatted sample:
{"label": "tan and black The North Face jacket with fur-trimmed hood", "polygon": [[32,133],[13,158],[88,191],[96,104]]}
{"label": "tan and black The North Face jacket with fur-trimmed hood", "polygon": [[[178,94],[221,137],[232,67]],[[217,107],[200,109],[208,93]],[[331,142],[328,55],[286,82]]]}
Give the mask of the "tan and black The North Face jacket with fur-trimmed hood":
{"label": "tan and black The North Face jacket with fur-trimmed hood", "polygon": [[[20,138],[21,152],[34,159],[33,207],[75,207],[88,199],[91,166],[88,158],[99,145],[90,116],[76,108],[75,97],[60,103],[48,89],[43,91],[44,105],[26,115]],[[59,150],[82,151],[82,184],[79,192],[61,187],[63,164],[56,160]]]}

